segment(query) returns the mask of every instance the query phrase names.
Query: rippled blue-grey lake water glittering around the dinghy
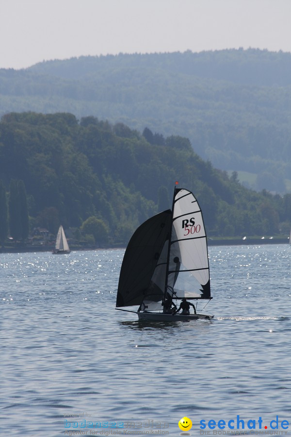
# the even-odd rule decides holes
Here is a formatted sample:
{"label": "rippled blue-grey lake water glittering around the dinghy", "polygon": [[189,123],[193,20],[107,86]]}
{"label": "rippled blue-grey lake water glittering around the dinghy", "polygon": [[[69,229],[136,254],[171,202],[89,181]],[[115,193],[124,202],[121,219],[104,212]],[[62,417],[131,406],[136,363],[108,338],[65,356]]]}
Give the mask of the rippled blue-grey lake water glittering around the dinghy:
{"label": "rippled blue-grey lake water glittering around the dinghy", "polygon": [[1,253],[0,435],[290,433],[291,247],[209,252],[215,318],[169,324],[114,309],[124,250]]}

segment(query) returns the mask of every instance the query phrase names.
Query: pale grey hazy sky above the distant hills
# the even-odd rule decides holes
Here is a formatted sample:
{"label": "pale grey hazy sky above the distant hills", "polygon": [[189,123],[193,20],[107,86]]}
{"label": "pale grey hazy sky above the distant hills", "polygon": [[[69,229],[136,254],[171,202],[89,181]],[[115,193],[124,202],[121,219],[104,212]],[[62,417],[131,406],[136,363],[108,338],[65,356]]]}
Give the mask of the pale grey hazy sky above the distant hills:
{"label": "pale grey hazy sky above the distant hills", "polygon": [[0,68],[239,47],[291,51],[291,0],[0,0]]}

